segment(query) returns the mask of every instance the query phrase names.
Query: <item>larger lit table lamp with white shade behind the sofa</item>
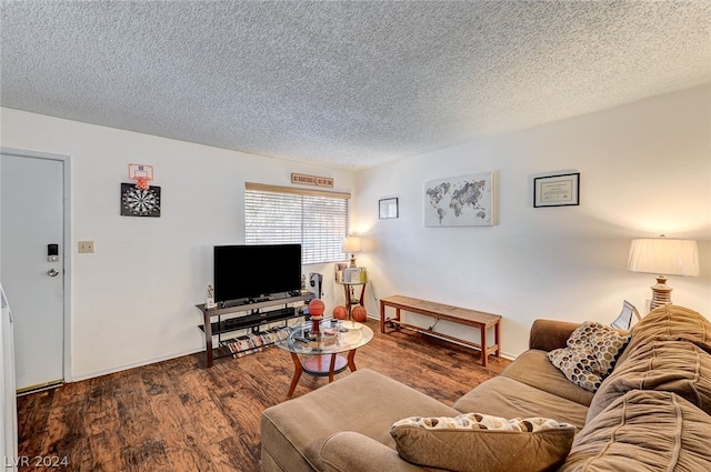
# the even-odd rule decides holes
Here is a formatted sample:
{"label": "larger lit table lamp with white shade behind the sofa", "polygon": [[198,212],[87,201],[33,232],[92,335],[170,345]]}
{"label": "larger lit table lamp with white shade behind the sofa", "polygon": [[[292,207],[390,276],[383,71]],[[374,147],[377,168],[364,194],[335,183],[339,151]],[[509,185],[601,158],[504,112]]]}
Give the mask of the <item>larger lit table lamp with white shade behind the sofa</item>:
{"label": "larger lit table lamp with white shade behind the sofa", "polygon": [[627,269],[632,272],[657,274],[652,285],[650,309],[671,304],[671,291],[665,275],[699,275],[699,247],[688,239],[659,238],[635,239],[630,245]]}

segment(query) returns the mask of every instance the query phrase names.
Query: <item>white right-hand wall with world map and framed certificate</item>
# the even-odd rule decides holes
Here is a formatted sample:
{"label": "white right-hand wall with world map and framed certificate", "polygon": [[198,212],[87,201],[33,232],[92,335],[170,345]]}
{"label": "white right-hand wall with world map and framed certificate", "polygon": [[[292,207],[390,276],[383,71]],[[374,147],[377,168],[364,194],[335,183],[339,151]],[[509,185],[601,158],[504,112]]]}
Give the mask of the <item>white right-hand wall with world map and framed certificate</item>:
{"label": "white right-hand wall with world map and framed certificate", "polygon": [[[623,300],[644,313],[654,278],[627,271],[629,244],[664,233],[699,240],[701,277],[668,283],[674,303],[710,317],[710,106],[705,86],[361,171],[359,264],[378,297],[501,314],[503,351],[518,355],[537,318],[609,323]],[[569,170],[581,173],[580,205],[533,208],[533,177]],[[497,225],[424,228],[424,182],[484,171],[498,180]],[[387,197],[399,219],[378,219]]]}

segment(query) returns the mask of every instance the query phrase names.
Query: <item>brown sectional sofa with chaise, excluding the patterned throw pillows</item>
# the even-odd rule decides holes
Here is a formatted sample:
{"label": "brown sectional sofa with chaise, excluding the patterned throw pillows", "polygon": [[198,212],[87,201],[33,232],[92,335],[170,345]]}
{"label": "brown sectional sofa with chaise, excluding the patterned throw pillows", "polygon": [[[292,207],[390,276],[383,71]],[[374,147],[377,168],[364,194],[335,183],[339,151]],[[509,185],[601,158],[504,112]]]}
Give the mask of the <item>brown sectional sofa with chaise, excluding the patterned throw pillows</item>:
{"label": "brown sectional sofa with chaise, excluding the patterned throw pillows", "polygon": [[[573,384],[548,358],[567,347],[578,327],[537,320],[530,349],[453,405],[360,370],[269,408],[261,419],[262,470],[420,471],[398,453],[392,424],[477,412],[574,425],[572,449],[554,470],[710,471],[711,323],[681,307],[654,310],[633,327],[594,393]],[[493,470],[477,465],[489,462],[474,450],[462,448],[460,470]],[[512,451],[502,446],[490,453]]]}

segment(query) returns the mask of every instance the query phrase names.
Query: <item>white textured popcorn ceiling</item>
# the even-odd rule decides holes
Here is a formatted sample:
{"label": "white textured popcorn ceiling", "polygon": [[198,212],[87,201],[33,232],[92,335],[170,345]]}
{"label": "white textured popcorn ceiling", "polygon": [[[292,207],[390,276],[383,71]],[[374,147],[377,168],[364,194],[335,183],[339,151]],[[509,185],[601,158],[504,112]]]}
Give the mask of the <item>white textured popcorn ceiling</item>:
{"label": "white textured popcorn ceiling", "polygon": [[7,1],[3,107],[360,169],[711,82],[711,0]]}

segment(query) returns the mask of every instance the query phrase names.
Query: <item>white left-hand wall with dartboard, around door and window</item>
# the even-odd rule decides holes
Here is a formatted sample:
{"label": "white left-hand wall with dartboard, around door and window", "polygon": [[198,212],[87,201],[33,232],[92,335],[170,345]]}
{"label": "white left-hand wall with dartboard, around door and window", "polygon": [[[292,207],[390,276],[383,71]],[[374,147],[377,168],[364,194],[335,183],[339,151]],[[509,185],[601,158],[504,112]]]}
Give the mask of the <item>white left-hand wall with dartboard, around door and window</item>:
{"label": "white left-hand wall with dartboard, around door and window", "polygon": [[[212,247],[244,241],[244,182],[290,185],[291,172],[331,177],[350,191],[351,172],[250,155],[147,134],[1,109],[7,148],[71,157],[71,375],[93,376],[203,349],[197,325],[212,282]],[[129,163],[151,164],[160,218],[119,214]],[[78,254],[77,241],[94,241]],[[246,265],[244,270],[249,270]],[[328,307],[342,303],[332,265],[322,272]]]}

